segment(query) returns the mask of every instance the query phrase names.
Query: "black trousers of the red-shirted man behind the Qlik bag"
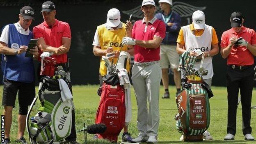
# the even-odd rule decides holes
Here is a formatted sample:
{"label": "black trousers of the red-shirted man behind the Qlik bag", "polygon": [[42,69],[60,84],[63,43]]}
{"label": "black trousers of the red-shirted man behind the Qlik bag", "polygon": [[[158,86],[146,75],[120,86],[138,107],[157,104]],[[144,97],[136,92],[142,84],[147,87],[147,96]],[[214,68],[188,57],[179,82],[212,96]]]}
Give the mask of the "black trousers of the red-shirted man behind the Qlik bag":
{"label": "black trousers of the red-shirted man behind the Qlik bag", "polygon": [[[66,64],[58,64],[61,65],[64,69],[64,71],[66,71]],[[38,80],[40,81],[40,79],[43,77],[43,75],[40,75],[40,70],[41,70],[41,62],[39,62],[38,67],[37,67],[37,76],[38,76]],[[73,91],[72,91],[72,84],[69,83],[69,90],[71,91],[71,94],[73,95]],[[71,126],[71,133],[68,137],[66,137],[66,141],[76,141],[76,130],[75,130],[75,109],[73,109],[72,111],[72,126]]]}

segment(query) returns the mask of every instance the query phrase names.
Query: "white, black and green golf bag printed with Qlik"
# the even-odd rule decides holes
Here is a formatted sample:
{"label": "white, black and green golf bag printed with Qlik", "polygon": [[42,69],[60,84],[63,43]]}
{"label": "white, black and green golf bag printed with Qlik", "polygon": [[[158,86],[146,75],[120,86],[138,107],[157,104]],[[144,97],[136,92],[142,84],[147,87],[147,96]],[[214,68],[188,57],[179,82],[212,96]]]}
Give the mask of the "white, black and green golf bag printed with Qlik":
{"label": "white, black and green golf bag printed with Qlik", "polygon": [[60,142],[70,135],[73,102],[72,99],[63,100],[61,91],[63,89],[59,88],[59,80],[48,77],[41,78],[37,95],[41,105],[38,113],[31,118],[30,128],[28,119],[37,97],[34,98],[27,114],[26,124],[32,144]]}

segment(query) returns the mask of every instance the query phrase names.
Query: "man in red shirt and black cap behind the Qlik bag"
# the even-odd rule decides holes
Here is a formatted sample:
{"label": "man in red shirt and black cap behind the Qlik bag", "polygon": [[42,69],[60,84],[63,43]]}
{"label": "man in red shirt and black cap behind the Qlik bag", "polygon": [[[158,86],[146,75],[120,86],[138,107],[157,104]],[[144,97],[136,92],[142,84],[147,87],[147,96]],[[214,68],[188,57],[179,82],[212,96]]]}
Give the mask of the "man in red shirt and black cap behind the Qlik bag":
{"label": "man in red shirt and black cap behind the Qlik bag", "polygon": [[[34,39],[38,39],[37,46],[39,47],[38,58],[39,63],[41,58],[55,57],[57,63],[55,66],[62,66],[66,71],[67,52],[69,52],[71,44],[71,31],[68,23],[55,19],[56,10],[53,2],[47,1],[42,4],[41,13],[43,15],[43,23],[37,25],[33,29]],[[40,72],[41,63],[39,64]],[[69,89],[72,93],[71,83]],[[69,137],[66,137],[66,142],[70,144],[78,144],[76,142],[75,131],[75,110],[72,110],[72,128]]]}

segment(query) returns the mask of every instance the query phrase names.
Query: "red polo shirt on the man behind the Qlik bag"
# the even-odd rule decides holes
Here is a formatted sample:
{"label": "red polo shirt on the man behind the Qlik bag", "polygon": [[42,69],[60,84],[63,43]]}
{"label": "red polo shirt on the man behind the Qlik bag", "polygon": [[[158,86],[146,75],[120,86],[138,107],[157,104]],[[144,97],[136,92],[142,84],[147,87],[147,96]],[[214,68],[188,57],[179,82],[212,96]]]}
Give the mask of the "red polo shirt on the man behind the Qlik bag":
{"label": "red polo shirt on the man behind the Qlik bag", "polygon": [[[46,45],[58,48],[62,46],[62,38],[71,39],[71,31],[68,23],[58,21],[55,19],[55,24],[50,27],[44,21],[43,23],[37,25],[33,28],[34,39],[43,38]],[[39,55],[43,53],[39,50]],[[57,64],[66,63],[67,55],[66,53],[62,55],[52,55],[51,57],[56,57]],[[39,62],[41,62],[41,57],[38,57]]]}

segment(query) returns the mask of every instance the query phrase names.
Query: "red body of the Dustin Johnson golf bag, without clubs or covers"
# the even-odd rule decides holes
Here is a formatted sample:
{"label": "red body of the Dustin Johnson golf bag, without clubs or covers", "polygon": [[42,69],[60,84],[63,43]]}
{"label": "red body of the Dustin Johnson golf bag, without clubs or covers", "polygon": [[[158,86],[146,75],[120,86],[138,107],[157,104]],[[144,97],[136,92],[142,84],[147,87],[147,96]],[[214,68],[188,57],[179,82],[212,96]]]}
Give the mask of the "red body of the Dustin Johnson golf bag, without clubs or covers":
{"label": "red body of the Dustin Johnson golf bag, without clubs or covers", "polygon": [[104,123],[107,130],[97,134],[98,138],[117,142],[117,137],[124,127],[125,121],[125,92],[122,86],[102,85],[100,104],[96,113],[95,123]]}

